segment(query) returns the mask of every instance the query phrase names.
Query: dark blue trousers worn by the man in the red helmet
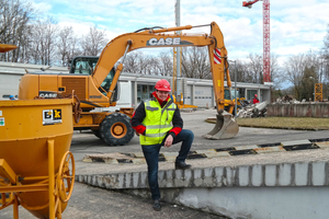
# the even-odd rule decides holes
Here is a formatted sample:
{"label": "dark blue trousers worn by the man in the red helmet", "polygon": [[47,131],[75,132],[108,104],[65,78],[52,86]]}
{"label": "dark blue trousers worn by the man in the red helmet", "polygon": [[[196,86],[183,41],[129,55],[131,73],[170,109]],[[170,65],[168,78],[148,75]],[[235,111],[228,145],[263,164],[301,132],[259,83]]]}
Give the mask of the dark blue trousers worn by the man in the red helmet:
{"label": "dark blue trousers worn by the man in the red helmet", "polygon": [[[173,138],[172,145],[182,142],[179,155],[175,158],[175,162],[184,162],[190,152],[194,134],[191,130],[182,129],[179,135]],[[151,146],[141,146],[143,153],[147,163],[148,184],[154,200],[160,199],[160,191],[158,184],[158,170],[159,170],[159,152],[164,145],[166,138],[161,143]]]}

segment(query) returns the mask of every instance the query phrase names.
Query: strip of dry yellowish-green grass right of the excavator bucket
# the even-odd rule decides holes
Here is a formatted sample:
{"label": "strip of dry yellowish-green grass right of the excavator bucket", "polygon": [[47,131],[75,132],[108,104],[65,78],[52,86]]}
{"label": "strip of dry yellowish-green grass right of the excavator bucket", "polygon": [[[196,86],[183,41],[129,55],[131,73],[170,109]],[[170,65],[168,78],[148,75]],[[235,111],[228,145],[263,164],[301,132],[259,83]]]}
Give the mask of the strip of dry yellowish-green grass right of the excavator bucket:
{"label": "strip of dry yellowish-green grass right of the excavator bucket", "polygon": [[239,126],[285,129],[329,130],[329,118],[261,117],[237,118]]}

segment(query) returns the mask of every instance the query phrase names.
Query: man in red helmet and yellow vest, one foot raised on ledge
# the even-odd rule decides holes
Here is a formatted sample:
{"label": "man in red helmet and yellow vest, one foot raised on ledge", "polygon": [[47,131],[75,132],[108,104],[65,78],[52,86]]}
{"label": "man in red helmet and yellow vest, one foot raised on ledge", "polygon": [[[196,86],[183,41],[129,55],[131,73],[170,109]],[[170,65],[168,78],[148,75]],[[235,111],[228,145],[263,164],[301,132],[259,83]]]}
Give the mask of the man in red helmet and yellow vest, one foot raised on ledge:
{"label": "man in red helmet and yellow vest, one foot raised on ledge", "polygon": [[132,117],[132,126],[139,135],[139,142],[148,168],[148,184],[154,199],[154,209],[161,210],[160,191],[158,184],[159,152],[162,146],[182,142],[179,155],[175,159],[177,170],[190,169],[185,163],[190,152],[194,134],[182,129],[183,119],[180,110],[173,103],[169,92],[170,83],[161,79],[156,83],[152,97],[143,101]]}

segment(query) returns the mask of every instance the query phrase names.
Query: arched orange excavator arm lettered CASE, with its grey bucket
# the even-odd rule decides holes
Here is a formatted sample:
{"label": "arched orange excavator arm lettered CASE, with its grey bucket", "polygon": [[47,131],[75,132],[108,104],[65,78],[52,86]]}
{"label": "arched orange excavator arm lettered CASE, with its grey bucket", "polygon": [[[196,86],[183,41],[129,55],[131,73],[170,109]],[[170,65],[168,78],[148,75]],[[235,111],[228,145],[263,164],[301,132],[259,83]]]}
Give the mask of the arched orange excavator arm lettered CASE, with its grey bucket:
{"label": "arched orange excavator arm lettered CASE, with its grey bucket", "polygon": [[[191,25],[186,25],[170,28],[150,28],[138,33],[128,33],[117,36],[105,46],[94,68],[94,71],[92,72],[92,80],[95,88],[101,87],[101,83],[106,78],[109,71],[122,58],[123,60],[121,60],[121,64],[116,68],[116,73],[113,78],[110,91],[107,93],[107,97],[111,99],[112,91],[115,88],[123,69],[124,58],[127,53],[135,49],[154,47],[207,46],[218,115],[216,124],[217,128],[215,127],[214,130],[212,130],[204,137],[209,139],[223,139],[236,136],[238,132],[238,126],[232,120],[231,114],[224,112],[224,104],[227,103],[224,99],[225,76],[227,79],[227,85],[231,85],[228,71],[227,50],[224,45],[224,36],[219,26],[215,22],[212,22],[209,26],[209,35],[186,33],[177,35],[174,33],[174,31],[194,28]],[[229,105],[231,112],[234,102],[229,103]],[[218,132],[220,131],[224,134],[220,134],[220,136],[218,136]]]}

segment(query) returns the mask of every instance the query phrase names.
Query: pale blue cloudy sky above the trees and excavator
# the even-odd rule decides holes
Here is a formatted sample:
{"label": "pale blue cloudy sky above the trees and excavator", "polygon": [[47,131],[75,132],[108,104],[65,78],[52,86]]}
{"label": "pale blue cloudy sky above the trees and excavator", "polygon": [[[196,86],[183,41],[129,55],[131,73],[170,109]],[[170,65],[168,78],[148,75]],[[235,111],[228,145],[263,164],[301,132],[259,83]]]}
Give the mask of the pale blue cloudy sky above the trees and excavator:
{"label": "pale blue cloudy sky above the trees and excavator", "polygon": [[[105,30],[109,39],[143,27],[172,27],[175,0],[27,0],[35,8],[86,34],[90,26]],[[319,49],[329,24],[329,0],[272,0],[271,53],[283,58]],[[241,0],[181,0],[181,25],[215,21],[223,34],[229,59],[262,54],[262,1],[251,9]],[[209,33],[209,28],[193,32]]]}

